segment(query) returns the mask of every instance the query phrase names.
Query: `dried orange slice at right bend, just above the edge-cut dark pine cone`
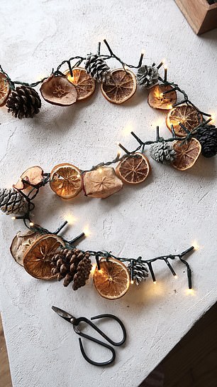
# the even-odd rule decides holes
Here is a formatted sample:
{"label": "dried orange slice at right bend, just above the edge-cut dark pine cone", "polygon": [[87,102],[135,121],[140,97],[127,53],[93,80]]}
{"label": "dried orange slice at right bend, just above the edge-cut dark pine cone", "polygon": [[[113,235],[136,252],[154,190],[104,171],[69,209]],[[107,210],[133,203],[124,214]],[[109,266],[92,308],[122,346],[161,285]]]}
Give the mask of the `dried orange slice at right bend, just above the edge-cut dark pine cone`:
{"label": "dried orange slice at right bend, just above the edge-cut dark pine cone", "polygon": [[186,136],[186,132],[180,127],[179,122],[184,125],[190,132],[197,127],[202,120],[201,114],[190,105],[179,105],[174,107],[167,115],[166,124],[170,132],[171,125],[174,127],[174,132],[179,137]]}

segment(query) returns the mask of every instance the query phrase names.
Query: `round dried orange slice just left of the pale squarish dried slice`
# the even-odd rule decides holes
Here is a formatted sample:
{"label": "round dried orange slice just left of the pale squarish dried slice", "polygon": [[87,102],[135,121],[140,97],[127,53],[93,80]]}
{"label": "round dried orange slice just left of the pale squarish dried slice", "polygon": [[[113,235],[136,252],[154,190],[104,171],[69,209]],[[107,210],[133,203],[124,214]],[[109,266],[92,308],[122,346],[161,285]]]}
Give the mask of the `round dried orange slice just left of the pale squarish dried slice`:
{"label": "round dried orange slice just left of the pale squarish dried slice", "polygon": [[50,172],[50,188],[61,198],[74,198],[82,191],[81,171],[69,163],[56,165]]}

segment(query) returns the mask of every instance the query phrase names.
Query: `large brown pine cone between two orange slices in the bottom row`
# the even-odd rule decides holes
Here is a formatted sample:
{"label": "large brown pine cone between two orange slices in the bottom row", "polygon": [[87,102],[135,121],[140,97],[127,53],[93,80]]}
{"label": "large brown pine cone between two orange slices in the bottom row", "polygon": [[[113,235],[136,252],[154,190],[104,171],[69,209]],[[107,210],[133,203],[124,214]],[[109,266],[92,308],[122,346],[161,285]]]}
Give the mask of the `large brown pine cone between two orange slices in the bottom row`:
{"label": "large brown pine cone between two orange slices in the bottom row", "polygon": [[64,278],[64,286],[68,286],[73,281],[73,290],[86,284],[92,267],[89,253],[77,248],[73,250],[65,248],[53,255],[51,265],[52,275],[57,275],[58,281]]}

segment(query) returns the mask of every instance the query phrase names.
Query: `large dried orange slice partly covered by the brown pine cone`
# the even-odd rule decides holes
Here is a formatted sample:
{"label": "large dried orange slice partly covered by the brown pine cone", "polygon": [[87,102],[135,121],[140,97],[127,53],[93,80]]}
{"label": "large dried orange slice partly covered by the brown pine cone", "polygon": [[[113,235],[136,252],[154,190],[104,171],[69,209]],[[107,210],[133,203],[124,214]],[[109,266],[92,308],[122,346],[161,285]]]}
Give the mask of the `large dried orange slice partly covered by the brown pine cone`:
{"label": "large dried orange slice partly covered by the brown pine cone", "polygon": [[28,274],[40,280],[50,280],[55,278],[52,275],[51,258],[65,247],[63,240],[52,234],[42,235],[40,238],[31,243],[23,256],[23,266]]}

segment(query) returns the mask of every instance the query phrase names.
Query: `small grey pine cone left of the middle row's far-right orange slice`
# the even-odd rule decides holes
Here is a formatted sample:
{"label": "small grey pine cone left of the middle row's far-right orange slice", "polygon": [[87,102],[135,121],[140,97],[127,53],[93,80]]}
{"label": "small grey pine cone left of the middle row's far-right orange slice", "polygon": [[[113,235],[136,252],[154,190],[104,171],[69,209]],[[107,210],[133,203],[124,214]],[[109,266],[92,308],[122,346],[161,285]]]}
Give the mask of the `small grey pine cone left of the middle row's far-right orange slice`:
{"label": "small grey pine cone left of the middle row's far-right orange slice", "polygon": [[164,161],[173,161],[177,152],[165,141],[156,142],[150,147],[150,157],[163,164]]}

